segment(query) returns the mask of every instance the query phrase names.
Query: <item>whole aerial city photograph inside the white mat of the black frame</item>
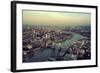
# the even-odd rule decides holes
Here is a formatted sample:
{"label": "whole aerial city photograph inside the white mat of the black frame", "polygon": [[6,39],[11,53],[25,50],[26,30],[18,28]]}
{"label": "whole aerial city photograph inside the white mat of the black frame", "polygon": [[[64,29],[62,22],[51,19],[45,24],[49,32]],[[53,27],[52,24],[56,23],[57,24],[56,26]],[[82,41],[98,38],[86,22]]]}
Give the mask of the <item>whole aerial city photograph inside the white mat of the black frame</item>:
{"label": "whole aerial city photograph inside the white mat of the black frame", "polygon": [[23,10],[23,62],[91,59],[91,14]]}

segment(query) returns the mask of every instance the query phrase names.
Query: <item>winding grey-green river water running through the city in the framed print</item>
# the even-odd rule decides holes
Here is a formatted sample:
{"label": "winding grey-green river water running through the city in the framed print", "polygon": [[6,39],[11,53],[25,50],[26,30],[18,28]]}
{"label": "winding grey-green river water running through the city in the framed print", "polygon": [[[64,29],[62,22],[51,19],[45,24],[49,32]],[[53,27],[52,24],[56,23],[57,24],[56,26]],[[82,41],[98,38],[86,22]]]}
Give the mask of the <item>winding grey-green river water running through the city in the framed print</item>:
{"label": "winding grey-green river water running through the city in the framed print", "polygon": [[[80,34],[76,34],[76,33],[72,33],[72,34],[73,34],[72,39],[66,40],[63,43],[61,43],[61,45],[60,45],[61,47],[70,47],[73,42],[84,38]],[[58,51],[56,50],[56,53],[57,52]],[[50,57],[52,57],[54,55],[55,55],[55,51],[51,48],[37,50],[31,55],[31,57],[26,58],[25,62],[43,62],[43,61],[47,61]]]}

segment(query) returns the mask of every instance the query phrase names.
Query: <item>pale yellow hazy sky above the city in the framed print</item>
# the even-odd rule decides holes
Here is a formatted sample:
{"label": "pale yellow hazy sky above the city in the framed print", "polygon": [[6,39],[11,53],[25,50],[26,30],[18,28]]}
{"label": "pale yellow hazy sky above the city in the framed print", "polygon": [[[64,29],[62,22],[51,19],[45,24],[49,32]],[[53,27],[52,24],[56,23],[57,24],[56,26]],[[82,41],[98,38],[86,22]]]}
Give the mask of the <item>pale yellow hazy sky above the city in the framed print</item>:
{"label": "pale yellow hazy sky above the city in the framed print", "polygon": [[23,25],[90,25],[91,14],[79,12],[54,12],[23,10]]}

